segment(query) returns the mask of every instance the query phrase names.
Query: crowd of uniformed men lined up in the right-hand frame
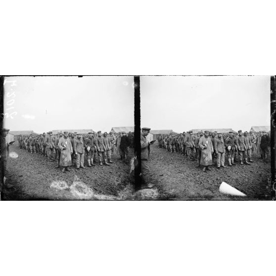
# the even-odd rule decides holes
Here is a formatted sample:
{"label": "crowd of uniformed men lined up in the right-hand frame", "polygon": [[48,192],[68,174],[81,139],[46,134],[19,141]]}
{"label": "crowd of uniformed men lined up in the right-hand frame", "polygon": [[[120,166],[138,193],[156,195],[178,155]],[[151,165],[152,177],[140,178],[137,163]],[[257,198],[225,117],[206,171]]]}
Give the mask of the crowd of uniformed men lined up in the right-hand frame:
{"label": "crowd of uniformed men lined up in the right-hand frame", "polygon": [[[253,133],[241,130],[237,134],[229,132],[222,134],[217,132],[201,131],[193,135],[192,131],[180,135],[159,135],[158,143],[160,148],[167,149],[171,153],[180,152],[188,156],[190,161],[197,160],[197,167],[204,166],[203,171],[211,170],[217,159],[217,167],[225,167],[225,157],[228,158],[229,166],[235,166],[235,161],[240,164],[251,165],[252,155],[261,155],[261,159],[268,159],[268,146],[270,137],[265,131]],[[236,158],[238,154],[238,158]],[[244,161],[244,163],[243,163]]]}

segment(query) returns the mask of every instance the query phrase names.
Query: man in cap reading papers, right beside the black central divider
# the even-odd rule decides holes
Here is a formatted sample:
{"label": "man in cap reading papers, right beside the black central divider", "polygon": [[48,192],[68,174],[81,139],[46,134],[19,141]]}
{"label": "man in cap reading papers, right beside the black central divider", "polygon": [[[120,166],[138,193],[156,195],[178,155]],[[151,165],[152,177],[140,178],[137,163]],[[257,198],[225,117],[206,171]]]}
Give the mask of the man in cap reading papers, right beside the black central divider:
{"label": "man in cap reading papers, right beside the black central divider", "polygon": [[142,180],[147,185],[148,188],[154,187],[154,184],[150,183],[150,170],[148,166],[149,153],[148,148],[150,144],[153,144],[155,140],[148,142],[146,136],[149,134],[149,128],[142,128],[140,135],[141,143],[141,174]]}

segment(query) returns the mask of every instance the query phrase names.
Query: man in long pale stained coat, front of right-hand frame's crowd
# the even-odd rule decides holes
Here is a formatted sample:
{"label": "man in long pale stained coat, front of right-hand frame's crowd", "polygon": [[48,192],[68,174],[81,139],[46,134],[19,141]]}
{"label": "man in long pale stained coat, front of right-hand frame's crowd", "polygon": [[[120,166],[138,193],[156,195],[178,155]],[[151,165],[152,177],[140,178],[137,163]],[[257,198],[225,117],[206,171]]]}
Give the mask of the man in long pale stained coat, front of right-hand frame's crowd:
{"label": "man in long pale stained coat, front of right-hand frame's crowd", "polygon": [[201,148],[200,165],[204,166],[202,171],[206,173],[206,170],[211,171],[209,166],[213,164],[212,153],[214,152],[208,131],[204,132],[204,136],[199,139],[198,145]]}

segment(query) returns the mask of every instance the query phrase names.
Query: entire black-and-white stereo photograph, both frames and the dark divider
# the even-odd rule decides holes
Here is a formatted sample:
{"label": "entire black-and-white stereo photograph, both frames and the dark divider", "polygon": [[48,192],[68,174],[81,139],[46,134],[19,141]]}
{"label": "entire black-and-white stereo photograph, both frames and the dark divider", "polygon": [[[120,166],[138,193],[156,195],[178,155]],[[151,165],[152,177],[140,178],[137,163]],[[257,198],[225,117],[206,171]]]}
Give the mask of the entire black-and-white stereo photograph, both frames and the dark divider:
{"label": "entire black-and-white stereo photograph, both frames and the dark divider", "polygon": [[1,199],[271,200],[273,85],[270,76],[2,77]]}

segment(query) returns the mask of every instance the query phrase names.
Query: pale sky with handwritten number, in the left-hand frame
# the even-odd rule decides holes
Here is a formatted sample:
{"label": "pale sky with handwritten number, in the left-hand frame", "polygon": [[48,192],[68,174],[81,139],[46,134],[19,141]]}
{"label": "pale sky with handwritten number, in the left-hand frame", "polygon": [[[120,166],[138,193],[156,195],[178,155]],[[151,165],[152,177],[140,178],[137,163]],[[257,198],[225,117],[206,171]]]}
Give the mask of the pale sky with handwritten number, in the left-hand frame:
{"label": "pale sky with handwritten number, in the left-hand frame", "polygon": [[9,116],[4,126],[10,131],[37,133],[60,129],[109,132],[112,127],[133,127],[133,83],[133,77],[116,76],[7,77],[4,113]]}

